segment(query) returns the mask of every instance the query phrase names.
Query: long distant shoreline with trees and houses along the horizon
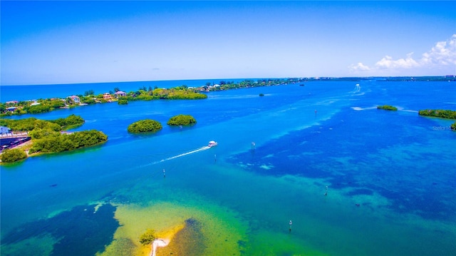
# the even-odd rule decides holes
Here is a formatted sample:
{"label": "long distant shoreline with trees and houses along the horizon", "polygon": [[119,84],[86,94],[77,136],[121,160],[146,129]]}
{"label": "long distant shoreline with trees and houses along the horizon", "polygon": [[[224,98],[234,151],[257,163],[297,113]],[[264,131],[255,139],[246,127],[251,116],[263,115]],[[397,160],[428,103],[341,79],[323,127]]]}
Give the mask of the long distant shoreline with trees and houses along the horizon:
{"label": "long distant shoreline with trees and houses along the horizon", "polygon": [[197,87],[188,87],[186,85],[174,88],[158,88],[157,86],[142,86],[137,91],[128,93],[120,91],[115,87],[113,91],[95,94],[95,91],[88,90],[83,94],[67,96],[66,98],[40,98],[29,101],[6,101],[0,102],[0,117],[24,115],[26,113],[37,114],[46,113],[58,109],[75,108],[78,106],[87,106],[96,103],[113,103],[128,105],[129,101],[152,101],[152,100],[193,100],[205,99],[211,91],[226,91],[238,88],[253,88],[260,86],[280,86],[288,84],[299,84],[303,86],[305,82],[319,81],[456,81],[456,76],[423,76],[423,77],[311,77],[311,78],[260,78],[244,79],[235,83],[234,81],[221,80],[219,83],[207,82]]}

